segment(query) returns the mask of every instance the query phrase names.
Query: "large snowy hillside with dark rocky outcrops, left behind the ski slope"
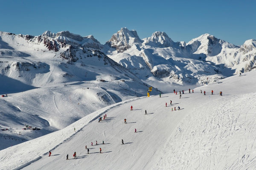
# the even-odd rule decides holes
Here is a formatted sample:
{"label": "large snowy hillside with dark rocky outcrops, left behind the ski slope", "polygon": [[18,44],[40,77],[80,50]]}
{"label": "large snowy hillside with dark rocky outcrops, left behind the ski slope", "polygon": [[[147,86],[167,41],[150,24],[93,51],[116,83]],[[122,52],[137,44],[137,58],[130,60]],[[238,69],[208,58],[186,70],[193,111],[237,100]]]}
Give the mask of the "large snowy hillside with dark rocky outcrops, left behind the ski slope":
{"label": "large snowy hillside with dark rocky outcrops, left behind the ski slope", "polygon": [[[8,94],[0,98],[0,149],[147,95],[150,85],[93,48],[93,42],[98,44],[92,36],[68,31],[36,37],[0,32],[0,94]],[[25,125],[41,130],[22,130]]]}

